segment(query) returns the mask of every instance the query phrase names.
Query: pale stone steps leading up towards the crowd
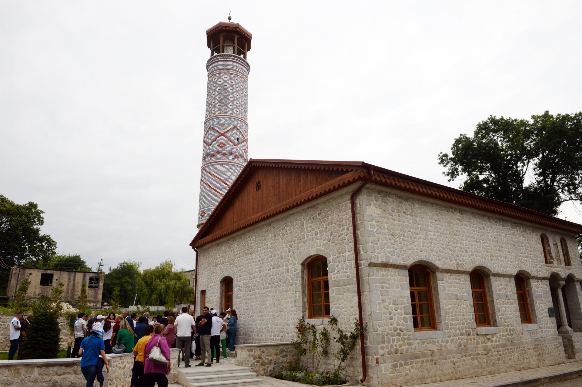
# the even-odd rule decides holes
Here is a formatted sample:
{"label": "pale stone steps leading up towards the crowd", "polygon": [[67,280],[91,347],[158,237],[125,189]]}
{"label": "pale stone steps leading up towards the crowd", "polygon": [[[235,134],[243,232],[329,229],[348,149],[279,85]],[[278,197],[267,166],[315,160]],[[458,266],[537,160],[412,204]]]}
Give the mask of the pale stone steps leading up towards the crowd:
{"label": "pale stone steps leading up towards the crowd", "polygon": [[180,367],[178,382],[189,387],[238,387],[262,384],[262,379],[248,367],[215,363],[212,367]]}

